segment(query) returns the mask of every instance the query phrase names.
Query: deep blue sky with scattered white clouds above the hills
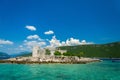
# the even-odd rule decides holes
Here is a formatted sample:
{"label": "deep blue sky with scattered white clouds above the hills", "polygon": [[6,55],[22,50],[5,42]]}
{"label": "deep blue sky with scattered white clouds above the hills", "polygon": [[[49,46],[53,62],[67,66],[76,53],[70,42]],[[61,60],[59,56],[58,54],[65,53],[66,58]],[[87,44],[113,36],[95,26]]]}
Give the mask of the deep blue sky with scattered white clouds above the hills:
{"label": "deep blue sky with scattered white clouds above the hills", "polygon": [[0,0],[0,51],[120,41],[120,0]]}

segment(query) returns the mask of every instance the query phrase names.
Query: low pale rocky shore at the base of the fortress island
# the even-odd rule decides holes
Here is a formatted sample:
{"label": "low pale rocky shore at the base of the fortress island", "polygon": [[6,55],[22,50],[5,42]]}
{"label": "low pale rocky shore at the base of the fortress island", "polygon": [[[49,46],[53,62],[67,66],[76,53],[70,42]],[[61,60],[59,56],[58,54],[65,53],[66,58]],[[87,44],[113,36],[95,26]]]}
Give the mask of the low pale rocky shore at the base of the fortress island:
{"label": "low pale rocky shore at the base of the fortress island", "polygon": [[0,60],[0,63],[16,63],[16,64],[86,64],[90,62],[100,62],[96,58],[78,58],[78,57],[52,57],[52,58],[33,58],[33,57],[17,57],[5,60]]}

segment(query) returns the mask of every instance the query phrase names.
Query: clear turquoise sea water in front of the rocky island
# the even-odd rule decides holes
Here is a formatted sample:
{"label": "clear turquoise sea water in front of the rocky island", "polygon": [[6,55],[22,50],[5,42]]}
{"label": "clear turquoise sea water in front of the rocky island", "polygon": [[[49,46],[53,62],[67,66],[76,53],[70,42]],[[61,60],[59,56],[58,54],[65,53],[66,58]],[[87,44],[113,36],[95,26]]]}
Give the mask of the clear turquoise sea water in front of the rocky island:
{"label": "clear turquoise sea water in front of the rocky island", "polygon": [[0,64],[0,80],[120,80],[120,62]]}

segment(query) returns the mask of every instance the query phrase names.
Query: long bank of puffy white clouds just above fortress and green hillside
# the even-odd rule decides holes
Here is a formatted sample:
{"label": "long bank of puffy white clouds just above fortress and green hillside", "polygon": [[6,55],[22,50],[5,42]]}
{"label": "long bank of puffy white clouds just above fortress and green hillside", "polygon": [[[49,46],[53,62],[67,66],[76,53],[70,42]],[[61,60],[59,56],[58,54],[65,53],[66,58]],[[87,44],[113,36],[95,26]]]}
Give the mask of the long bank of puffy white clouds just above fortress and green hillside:
{"label": "long bank of puffy white clouds just above fortress and green hillside", "polygon": [[52,36],[52,39],[41,39],[38,35],[29,35],[27,40],[23,41],[23,45],[20,45],[21,50],[32,50],[33,46],[55,48],[59,46],[75,46],[75,45],[86,45],[93,44],[92,42],[86,42],[86,40],[80,41],[75,38],[68,38],[66,41],[60,41],[56,36]]}

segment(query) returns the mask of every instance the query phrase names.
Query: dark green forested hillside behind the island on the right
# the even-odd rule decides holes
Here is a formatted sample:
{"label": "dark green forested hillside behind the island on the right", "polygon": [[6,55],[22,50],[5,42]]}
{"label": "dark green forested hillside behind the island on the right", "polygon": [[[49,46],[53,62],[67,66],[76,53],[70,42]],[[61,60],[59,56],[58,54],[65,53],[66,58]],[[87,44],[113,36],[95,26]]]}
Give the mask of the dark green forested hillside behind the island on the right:
{"label": "dark green forested hillside behind the island on the right", "polygon": [[82,56],[82,57],[99,57],[99,58],[120,58],[120,42],[108,44],[91,44],[78,46],[58,47],[67,50],[64,55]]}

